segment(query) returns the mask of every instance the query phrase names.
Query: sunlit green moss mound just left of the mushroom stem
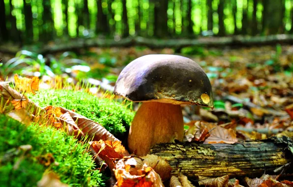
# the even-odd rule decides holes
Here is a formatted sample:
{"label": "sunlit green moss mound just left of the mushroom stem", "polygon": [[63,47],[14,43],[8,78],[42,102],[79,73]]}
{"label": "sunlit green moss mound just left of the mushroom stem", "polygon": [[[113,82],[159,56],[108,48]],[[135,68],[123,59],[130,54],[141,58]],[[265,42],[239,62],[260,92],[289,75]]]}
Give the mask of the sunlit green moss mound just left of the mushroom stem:
{"label": "sunlit green moss mound just left of the mushroom stem", "polygon": [[29,98],[40,106],[61,106],[103,125],[118,139],[129,130],[134,112],[125,105],[108,98],[98,98],[81,91],[41,90]]}

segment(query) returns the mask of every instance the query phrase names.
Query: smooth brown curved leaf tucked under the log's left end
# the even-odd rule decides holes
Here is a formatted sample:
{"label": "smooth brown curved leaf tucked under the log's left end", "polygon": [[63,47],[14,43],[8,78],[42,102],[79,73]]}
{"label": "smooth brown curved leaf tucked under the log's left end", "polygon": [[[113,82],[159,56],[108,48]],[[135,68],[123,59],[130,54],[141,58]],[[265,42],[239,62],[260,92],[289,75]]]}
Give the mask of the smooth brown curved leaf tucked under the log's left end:
{"label": "smooth brown curved leaf tucked under the log's left end", "polygon": [[160,175],[162,181],[170,179],[172,167],[166,160],[156,155],[146,155],[141,158],[144,159],[146,165],[152,167],[153,170]]}

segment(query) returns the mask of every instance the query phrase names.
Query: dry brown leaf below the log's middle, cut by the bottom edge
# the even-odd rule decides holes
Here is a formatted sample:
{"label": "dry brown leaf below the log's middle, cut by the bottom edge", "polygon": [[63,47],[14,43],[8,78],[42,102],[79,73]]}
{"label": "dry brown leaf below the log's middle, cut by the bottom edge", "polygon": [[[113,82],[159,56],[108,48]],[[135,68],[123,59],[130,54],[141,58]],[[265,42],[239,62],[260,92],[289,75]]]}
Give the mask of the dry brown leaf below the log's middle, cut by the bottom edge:
{"label": "dry brown leaf below the log's middle, cut by the bottom edge", "polygon": [[199,185],[205,185],[209,187],[228,187],[228,182],[228,175],[218,178],[206,178],[199,176]]}

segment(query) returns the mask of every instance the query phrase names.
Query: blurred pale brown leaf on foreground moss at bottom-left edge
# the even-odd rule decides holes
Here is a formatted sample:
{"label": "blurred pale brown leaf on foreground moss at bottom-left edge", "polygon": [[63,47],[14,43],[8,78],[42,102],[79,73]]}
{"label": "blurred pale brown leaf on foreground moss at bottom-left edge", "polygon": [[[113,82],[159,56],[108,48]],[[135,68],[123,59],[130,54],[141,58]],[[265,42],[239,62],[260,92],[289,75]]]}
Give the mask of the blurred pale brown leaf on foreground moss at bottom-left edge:
{"label": "blurred pale brown leaf on foreground moss at bottom-left edge", "polygon": [[38,181],[37,187],[69,187],[61,183],[57,174],[50,172],[43,175],[42,179]]}

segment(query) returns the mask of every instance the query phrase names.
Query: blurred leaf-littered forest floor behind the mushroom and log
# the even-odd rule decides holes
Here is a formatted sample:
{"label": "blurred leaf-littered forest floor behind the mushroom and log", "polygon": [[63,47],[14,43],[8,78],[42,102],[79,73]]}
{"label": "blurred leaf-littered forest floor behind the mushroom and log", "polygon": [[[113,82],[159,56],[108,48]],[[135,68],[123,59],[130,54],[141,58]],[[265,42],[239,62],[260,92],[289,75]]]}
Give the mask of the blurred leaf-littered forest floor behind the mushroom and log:
{"label": "blurred leaf-littered forest floor behind the mushroom and log", "polygon": [[[174,53],[174,50],[169,48],[151,50],[145,47],[93,47],[88,50],[81,49],[77,55],[65,52],[46,57],[34,57],[34,55],[28,55],[28,52],[23,52],[18,54],[18,59],[14,61],[10,60],[14,56],[0,54],[0,59],[3,59],[0,78],[5,80],[4,75],[8,75],[8,80],[13,80],[14,73],[27,77],[38,75],[35,72],[41,71],[41,65],[37,66],[35,63],[29,65],[18,63],[18,66],[12,65],[8,68],[10,72],[4,72],[5,62],[10,60],[13,64],[20,59],[29,58],[50,66],[55,75],[59,74],[62,79],[69,78],[73,83],[77,83],[80,78],[86,78],[87,83],[99,85],[102,88],[98,92],[96,89],[90,89],[89,92],[97,93],[98,97],[104,98],[107,97],[107,94],[104,94],[105,91],[108,93],[113,91],[117,76],[127,63],[147,54]],[[214,96],[213,110],[182,106],[186,125],[185,141],[195,140],[193,126],[199,121],[205,127],[212,123],[234,130],[236,139],[233,139],[233,134],[228,133],[229,138],[216,137],[214,141],[218,143],[261,141],[271,136],[281,137],[282,135],[293,137],[293,46],[276,45],[237,49],[186,47],[177,55],[188,57],[203,67],[211,82]],[[52,63],[56,64],[55,67]],[[73,65],[80,64],[82,66],[73,68]],[[56,68],[57,66],[60,68]],[[43,78],[52,79],[50,73],[44,74],[47,75]],[[137,108],[138,105],[133,105],[134,111]],[[201,127],[199,129],[202,130]],[[214,136],[213,131],[219,129],[209,130],[209,136]],[[208,137],[201,141],[208,143]],[[258,184],[267,180],[268,177],[262,178]],[[275,181],[276,178],[271,177],[269,180],[278,183]],[[289,182],[285,183],[292,185]],[[208,184],[206,182],[200,185]]]}

